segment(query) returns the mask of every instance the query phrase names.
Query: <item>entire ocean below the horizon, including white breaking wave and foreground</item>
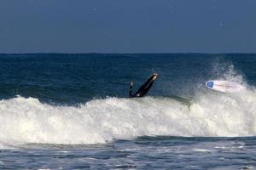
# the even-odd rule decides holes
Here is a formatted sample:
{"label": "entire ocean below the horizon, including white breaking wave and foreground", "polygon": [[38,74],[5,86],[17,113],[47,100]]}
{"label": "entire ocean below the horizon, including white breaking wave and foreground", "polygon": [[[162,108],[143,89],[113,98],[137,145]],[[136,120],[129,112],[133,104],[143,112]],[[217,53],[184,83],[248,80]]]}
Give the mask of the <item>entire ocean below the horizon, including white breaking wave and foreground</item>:
{"label": "entire ocean below the horizon, including white breaking wave and foreground", "polygon": [[256,169],[255,87],[256,54],[0,54],[0,168]]}

